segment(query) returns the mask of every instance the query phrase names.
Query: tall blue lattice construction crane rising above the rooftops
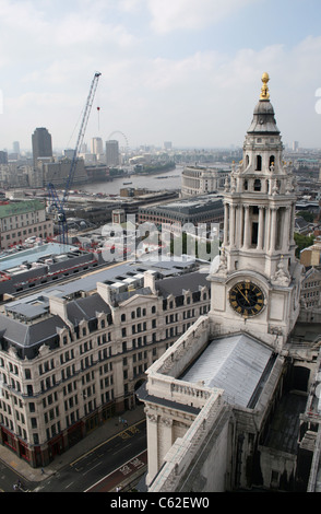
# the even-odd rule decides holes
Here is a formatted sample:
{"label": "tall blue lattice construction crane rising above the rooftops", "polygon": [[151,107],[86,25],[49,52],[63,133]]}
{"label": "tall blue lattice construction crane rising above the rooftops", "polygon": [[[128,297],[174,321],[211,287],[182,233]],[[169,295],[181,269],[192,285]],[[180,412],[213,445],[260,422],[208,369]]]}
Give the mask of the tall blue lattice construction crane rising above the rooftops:
{"label": "tall blue lattice construction crane rising above the rooftops", "polygon": [[99,80],[100,74],[102,73],[96,71],[95,74],[94,74],[94,78],[92,80],[92,83],[91,83],[91,89],[90,89],[90,93],[88,93],[88,96],[87,96],[87,101],[86,101],[86,105],[85,105],[85,109],[84,109],[84,114],[83,114],[83,118],[82,118],[82,122],[81,122],[81,128],[80,128],[78,140],[76,140],[76,145],[75,145],[75,149],[74,149],[74,152],[73,152],[71,167],[70,167],[70,171],[69,171],[69,174],[68,174],[68,177],[67,177],[66,187],[64,187],[64,191],[63,191],[62,197],[59,198],[59,196],[56,191],[56,187],[52,183],[48,184],[49,205],[50,205],[51,210],[54,210],[54,209],[56,210],[57,222],[58,222],[58,232],[59,232],[58,241],[62,244],[68,243],[68,223],[67,223],[67,217],[66,217],[66,212],[64,212],[64,205],[68,200],[70,188],[71,188],[71,185],[73,183],[75,167],[76,167],[76,161],[78,161],[78,154],[79,154],[79,151],[80,151],[81,145],[83,143],[84,135],[85,135],[86,127],[87,127],[88,117],[90,117],[90,114],[91,114],[91,110],[92,110],[92,105],[93,105],[93,102],[94,102],[94,97],[95,97],[95,93],[96,93],[96,89],[97,89],[97,85],[98,85],[98,80]]}

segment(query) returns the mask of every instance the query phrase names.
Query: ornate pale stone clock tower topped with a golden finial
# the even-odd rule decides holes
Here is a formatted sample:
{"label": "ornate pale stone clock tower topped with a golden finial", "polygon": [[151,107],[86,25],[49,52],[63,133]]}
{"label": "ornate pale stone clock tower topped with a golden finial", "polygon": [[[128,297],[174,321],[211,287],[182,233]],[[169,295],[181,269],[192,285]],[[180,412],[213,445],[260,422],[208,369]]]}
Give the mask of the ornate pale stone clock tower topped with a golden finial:
{"label": "ornate pale stone clock tower topped with a golden finial", "polygon": [[299,313],[301,266],[295,258],[295,177],[270,103],[269,75],[224,192],[224,243],[210,272],[215,334],[247,331],[283,348]]}

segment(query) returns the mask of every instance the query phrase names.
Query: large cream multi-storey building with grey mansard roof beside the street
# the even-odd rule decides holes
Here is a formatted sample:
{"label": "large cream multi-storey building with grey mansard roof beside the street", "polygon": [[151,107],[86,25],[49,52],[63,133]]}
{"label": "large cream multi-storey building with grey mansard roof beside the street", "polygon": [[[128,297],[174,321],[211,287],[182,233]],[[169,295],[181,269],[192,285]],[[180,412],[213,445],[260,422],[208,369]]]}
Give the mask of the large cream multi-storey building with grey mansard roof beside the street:
{"label": "large cream multi-storey building with grey mansard roof beside the street", "polygon": [[210,308],[195,264],[127,262],[5,303],[0,442],[46,466],[135,405],[146,369]]}

